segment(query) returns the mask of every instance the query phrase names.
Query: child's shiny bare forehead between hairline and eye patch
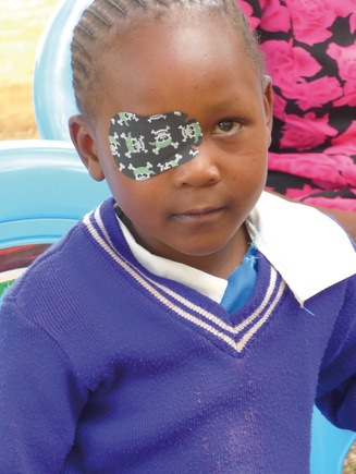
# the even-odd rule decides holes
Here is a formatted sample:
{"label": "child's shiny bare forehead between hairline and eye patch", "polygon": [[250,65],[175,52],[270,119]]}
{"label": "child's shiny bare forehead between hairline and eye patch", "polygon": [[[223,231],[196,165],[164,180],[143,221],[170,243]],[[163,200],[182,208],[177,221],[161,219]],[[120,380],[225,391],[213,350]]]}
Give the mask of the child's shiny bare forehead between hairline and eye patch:
{"label": "child's shiny bare forehead between hairline and eye patch", "polygon": [[118,39],[101,59],[101,94],[112,105],[110,117],[122,110],[142,116],[189,112],[192,101],[210,107],[217,93],[219,102],[229,102],[257,76],[236,37],[229,41],[226,29],[211,35],[208,22],[200,21],[196,28],[183,22],[172,32],[172,23],[145,25],[139,35]]}

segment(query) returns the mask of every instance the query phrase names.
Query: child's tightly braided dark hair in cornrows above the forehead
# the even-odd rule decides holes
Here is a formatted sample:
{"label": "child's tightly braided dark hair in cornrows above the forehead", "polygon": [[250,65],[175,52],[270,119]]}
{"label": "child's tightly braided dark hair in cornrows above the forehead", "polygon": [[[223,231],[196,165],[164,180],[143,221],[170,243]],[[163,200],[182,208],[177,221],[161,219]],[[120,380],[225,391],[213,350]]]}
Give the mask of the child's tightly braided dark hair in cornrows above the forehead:
{"label": "child's tightly braided dark hair in cornrows above the forehead", "polygon": [[257,38],[235,0],[94,0],[74,28],[71,44],[73,87],[77,108],[84,117],[91,117],[98,104],[98,58],[110,45],[113,35],[118,34],[124,22],[128,22],[134,15],[143,22],[148,16],[155,19],[168,14],[173,7],[211,11],[234,22],[243,39],[243,46],[262,78],[263,60]]}

